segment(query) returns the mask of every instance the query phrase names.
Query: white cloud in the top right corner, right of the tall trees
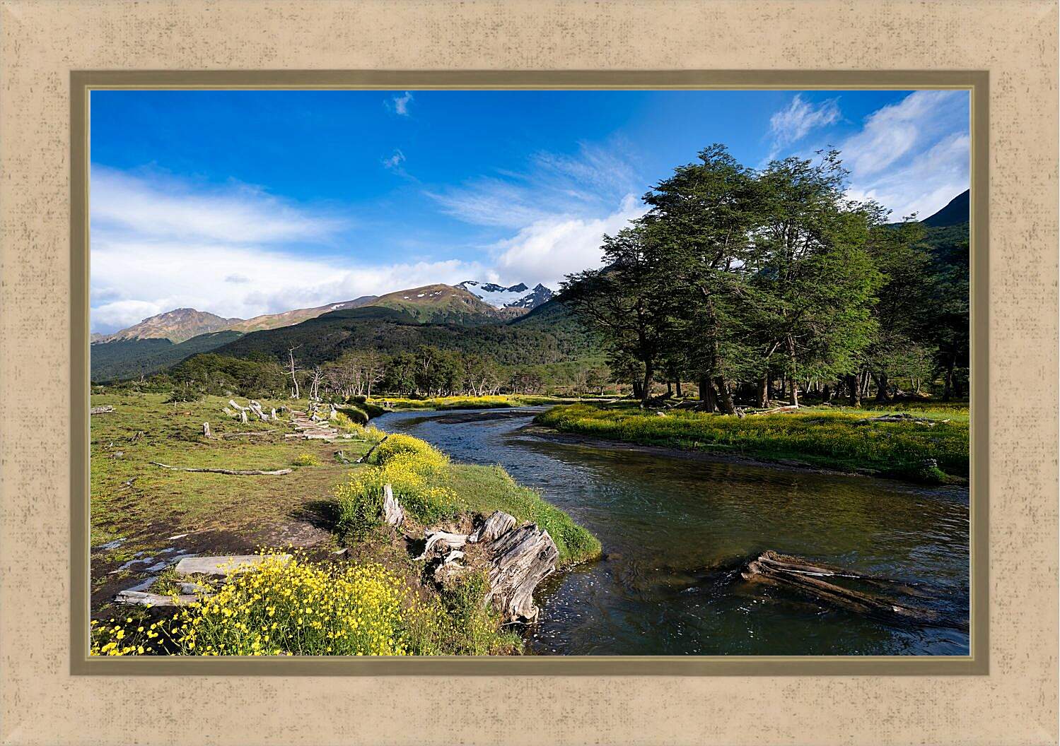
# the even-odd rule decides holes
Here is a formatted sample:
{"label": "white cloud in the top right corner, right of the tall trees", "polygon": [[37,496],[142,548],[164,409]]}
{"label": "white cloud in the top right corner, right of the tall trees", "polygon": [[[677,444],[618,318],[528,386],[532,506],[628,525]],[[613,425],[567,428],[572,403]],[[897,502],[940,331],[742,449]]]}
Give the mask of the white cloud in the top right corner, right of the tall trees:
{"label": "white cloud in the top right corner, right of the tall trees", "polygon": [[872,112],[838,147],[849,194],[922,219],[969,186],[967,91],[914,91]]}

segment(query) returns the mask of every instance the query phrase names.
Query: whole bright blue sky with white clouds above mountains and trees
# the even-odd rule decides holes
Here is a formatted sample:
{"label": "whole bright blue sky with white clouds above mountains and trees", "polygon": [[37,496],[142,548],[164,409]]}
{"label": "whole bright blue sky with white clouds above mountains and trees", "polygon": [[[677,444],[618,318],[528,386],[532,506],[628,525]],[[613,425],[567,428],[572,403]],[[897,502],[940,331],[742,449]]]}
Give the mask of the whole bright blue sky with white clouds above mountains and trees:
{"label": "whole bright blue sky with white clouds above mountains and trees", "polygon": [[431,282],[555,287],[722,142],[834,146],[895,219],[968,188],[964,91],[95,91],[92,330]]}

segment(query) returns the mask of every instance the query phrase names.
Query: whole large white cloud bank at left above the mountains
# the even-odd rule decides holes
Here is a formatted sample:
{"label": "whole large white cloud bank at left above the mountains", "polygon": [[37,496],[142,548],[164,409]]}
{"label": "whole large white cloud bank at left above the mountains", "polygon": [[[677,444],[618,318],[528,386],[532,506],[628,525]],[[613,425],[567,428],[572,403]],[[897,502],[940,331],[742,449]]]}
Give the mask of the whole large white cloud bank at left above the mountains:
{"label": "whole large white cloud bank at left above the mountains", "polygon": [[457,260],[379,264],[356,246],[315,255],[306,244],[330,246],[351,221],[241,184],[93,166],[91,218],[94,332],[178,307],[248,318],[488,271]]}

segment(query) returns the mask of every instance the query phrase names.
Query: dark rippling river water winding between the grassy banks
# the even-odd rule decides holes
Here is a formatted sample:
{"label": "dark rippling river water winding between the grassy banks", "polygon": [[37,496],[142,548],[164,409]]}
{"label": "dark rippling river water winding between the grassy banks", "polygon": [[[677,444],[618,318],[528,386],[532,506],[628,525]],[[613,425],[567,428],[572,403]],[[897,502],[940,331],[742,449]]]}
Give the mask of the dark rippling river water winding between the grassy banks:
{"label": "dark rippling river water winding between the grassy banks", "polygon": [[[384,430],[501,464],[596,534],[604,558],[548,579],[538,654],[968,655],[965,489],[562,443],[536,413],[394,412]],[[950,621],[826,608],[739,573],[765,549],[915,585]]]}

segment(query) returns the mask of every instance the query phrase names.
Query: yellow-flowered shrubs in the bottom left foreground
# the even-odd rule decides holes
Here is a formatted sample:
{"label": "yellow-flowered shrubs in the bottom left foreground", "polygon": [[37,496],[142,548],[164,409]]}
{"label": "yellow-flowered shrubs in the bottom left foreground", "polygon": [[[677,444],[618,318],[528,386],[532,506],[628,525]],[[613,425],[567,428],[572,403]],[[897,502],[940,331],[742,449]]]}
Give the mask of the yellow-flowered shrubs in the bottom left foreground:
{"label": "yellow-flowered shrubs in the bottom left foreground", "polygon": [[483,593],[473,580],[424,601],[382,565],[329,569],[269,558],[172,618],[93,622],[91,654],[485,655],[519,647],[497,630]]}

